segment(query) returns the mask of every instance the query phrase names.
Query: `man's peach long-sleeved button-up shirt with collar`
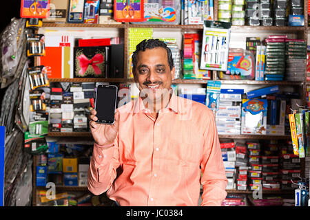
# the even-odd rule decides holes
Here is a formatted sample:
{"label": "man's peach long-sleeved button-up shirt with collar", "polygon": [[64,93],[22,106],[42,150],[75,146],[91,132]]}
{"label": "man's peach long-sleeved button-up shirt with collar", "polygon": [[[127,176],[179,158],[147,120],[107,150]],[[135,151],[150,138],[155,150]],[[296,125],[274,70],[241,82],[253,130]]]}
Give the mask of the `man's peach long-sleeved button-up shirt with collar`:
{"label": "man's peach long-sleeved button-up shirt with collar", "polygon": [[[172,94],[153,118],[141,98],[116,109],[114,146],[94,144],[87,187],[120,206],[220,206],[227,178],[214,115]],[[117,170],[116,170],[117,169]]]}

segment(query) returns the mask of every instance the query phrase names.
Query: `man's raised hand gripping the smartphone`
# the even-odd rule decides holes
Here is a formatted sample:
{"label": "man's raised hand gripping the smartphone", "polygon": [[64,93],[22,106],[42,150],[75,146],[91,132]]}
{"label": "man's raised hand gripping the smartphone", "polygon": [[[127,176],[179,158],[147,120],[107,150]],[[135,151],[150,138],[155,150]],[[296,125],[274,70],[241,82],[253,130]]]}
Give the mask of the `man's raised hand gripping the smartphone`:
{"label": "man's raised hand gripping the smartphone", "polygon": [[113,144],[119,127],[118,112],[116,111],[114,115],[114,124],[96,123],[96,120],[98,120],[96,110],[92,109],[90,113],[90,131],[95,143],[99,145]]}

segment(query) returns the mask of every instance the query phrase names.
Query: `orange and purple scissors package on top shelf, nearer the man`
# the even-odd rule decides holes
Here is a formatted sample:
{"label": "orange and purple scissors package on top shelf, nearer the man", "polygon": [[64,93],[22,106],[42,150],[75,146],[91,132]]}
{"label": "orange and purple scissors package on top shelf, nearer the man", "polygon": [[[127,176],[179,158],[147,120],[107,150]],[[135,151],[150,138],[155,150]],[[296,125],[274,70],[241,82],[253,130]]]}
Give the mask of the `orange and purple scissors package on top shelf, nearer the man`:
{"label": "orange and purple scissors package on top shelf, nearer the man", "polygon": [[144,21],[143,0],[114,0],[114,20],[121,22]]}

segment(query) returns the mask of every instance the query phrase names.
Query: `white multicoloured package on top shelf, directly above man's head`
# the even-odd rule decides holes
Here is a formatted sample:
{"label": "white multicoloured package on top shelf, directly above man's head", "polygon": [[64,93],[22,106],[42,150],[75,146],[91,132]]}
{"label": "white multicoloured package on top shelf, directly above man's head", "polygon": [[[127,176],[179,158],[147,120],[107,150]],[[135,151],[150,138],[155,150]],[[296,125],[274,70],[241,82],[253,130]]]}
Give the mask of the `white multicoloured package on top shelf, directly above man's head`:
{"label": "white multicoloured package on top shelf, directly above man's head", "polygon": [[180,24],[180,1],[177,0],[145,0],[144,20],[138,23]]}

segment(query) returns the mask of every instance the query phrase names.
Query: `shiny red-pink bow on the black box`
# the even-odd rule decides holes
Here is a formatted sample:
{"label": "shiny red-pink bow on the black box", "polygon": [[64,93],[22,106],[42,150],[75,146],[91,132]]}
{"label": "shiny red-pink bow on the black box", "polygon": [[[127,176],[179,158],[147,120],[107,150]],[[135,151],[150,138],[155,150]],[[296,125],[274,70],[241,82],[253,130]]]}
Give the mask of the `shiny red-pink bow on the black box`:
{"label": "shiny red-pink bow on the black box", "polygon": [[101,69],[97,65],[99,65],[100,63],[103,63],[104,61],[102,54],[96,54],[90,60],[88,60],[88,58],[84,54],[82,54],[78,56],[77,59],[79,60],[79,64],[81,67],[79,71],[80,76],[83,76],[85,74],[89,65],[92,66],[96,75],[101,75]]}

